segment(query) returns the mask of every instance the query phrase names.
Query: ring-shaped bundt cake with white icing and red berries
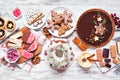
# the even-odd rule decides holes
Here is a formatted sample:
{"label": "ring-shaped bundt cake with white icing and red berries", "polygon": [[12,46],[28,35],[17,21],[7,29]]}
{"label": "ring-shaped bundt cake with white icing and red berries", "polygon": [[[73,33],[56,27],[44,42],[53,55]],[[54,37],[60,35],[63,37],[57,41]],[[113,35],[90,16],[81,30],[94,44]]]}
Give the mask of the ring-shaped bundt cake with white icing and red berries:
{"label": "ring-shaped bundt cake with white icing and red berries", "polygon": [[51,40],[44,54],[49,66],[58,72],[65,71],[74,58],[72,48],[64,40]]}

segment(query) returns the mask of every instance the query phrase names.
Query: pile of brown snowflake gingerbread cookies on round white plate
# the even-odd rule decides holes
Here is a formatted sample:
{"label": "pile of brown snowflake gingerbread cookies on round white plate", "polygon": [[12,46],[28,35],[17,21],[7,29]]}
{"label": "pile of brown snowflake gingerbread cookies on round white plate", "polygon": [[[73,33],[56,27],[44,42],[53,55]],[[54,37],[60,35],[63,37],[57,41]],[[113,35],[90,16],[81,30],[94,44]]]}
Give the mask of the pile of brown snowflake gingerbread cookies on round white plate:
{"label": "pile of brown snowflake gingerbread cookies on round white plate", "polygon": [[51,11],[51,19],[47,20],[46,28],[50,29],[52,33],[54,30],[58,32],[58,36],[62,36],[66,31],[73,28],[72,23],[72,13],[64,10],[63,13],[57,13],[56,11]]}

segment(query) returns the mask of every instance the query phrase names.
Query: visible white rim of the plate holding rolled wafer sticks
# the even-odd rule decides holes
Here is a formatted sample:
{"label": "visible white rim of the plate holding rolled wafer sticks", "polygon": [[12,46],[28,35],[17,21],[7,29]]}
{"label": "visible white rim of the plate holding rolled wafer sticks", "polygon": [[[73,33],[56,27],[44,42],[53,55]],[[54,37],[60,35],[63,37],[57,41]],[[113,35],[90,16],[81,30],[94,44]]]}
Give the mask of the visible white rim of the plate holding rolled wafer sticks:
{"label": "visible white rim of the plate holding rolled wafer sticks", "polygon": [[23,12],[23,16],[22,16],[22,21],[23,21],[23,23],[25,24],[25,26],[26,27],[28,27],[28,28],[30,28],[30,29],[35,29],[35,30],[37,30],[37,29],[40,29],[44,24],[45,24],[45,14],[44,14],[44,12],[43,12],[43,9],[42,8],[32,8],[33,10],[37,10],[37,9],[39,9],[41,12],[43,12],[43,14],[44,14],[44,17],[42,18],[42,21],[43,21],[43,23],[42,24],[40,24],[40,25],[38,25],[37,27],[34,27],[33,26],[33,24],[31,24],[31,25],[29,25],[28,23],[27,23],[27,20],[26,20],[26,18],[27,18],[27,11],[30,9],[30,7],[29,8],[26,8],[25,10],[23,10],[24,12]]}

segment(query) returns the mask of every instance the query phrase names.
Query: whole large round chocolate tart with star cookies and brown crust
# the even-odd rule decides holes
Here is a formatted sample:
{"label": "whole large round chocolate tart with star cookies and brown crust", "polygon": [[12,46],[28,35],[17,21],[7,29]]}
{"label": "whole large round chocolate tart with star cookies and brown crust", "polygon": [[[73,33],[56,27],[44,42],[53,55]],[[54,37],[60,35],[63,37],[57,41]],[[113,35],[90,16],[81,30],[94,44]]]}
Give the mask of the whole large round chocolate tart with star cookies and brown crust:
{"label": "whole large round chocolate tart with star cookies and brown crust", "polygon": [[107,44],[114,35],[114,22],[102,9],[90,9],[77,21],[77,34],[89,46],[100,47]]}

